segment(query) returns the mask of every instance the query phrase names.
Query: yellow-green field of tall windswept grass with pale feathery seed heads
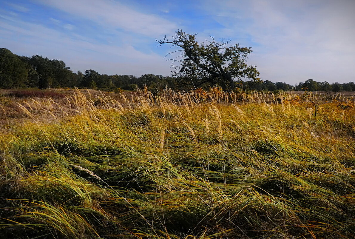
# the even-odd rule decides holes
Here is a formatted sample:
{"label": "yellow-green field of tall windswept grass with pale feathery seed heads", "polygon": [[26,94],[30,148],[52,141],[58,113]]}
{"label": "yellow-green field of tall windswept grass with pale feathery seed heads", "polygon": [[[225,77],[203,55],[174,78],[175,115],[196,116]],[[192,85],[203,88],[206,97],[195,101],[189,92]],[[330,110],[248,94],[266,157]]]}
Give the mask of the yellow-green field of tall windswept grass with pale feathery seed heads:
{"label": "yellow-green field of tall windswept grass with pale feathery seed heads", "polygon": [[1,238],[354,238],[352,96],[110,96],[1,105]]}

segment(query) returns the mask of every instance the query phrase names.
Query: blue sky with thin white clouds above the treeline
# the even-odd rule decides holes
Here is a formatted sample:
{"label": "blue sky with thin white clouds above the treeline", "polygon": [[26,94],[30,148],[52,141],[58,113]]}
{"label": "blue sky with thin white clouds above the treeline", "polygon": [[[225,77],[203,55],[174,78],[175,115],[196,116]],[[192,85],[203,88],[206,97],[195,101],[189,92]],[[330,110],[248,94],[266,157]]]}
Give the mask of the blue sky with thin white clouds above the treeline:
{"label": "blue sky with thin white clouds above the treeline", "polygon": [[354,0],[0,0],[0,48],[59,59],[73,72],[171,75],[182,29],[251,47],[262,80],[355,81]]}

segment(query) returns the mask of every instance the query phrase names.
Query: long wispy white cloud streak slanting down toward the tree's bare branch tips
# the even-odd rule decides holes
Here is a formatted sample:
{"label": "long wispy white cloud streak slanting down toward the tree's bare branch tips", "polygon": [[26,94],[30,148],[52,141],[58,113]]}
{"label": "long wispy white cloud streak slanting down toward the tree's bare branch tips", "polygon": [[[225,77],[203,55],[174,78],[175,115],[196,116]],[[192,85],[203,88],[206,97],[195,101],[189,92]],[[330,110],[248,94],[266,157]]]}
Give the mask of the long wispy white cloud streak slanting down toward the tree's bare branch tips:
{"label": "long wispy white cloud streak slanting down toward the tree's bare branch tips", "polygon": [[175,23],[154,14],[142,13],[115,1],[99,0],[37,0],[73,16],[96,22],[105,28],[157,36],[177,29]]}

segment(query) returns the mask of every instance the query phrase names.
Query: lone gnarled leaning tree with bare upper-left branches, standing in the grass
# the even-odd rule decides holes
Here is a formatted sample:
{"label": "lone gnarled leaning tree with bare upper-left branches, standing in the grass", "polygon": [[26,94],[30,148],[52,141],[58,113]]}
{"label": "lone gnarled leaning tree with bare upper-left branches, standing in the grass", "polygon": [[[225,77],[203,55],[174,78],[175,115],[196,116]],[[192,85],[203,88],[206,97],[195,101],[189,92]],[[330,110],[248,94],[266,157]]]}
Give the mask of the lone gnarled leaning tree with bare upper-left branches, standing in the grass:
{"label": "lone gnarled leaning tree with bare upper-left branches, standing in the grass", "polygon": [[210,83],[230,89],[235,80],[242,78],[260,81],[256,66],[246,64],[247,56],[252,52],[251,48],[239,47],[239,44],[226,47],[230,39],[221,39],[221,43],[218,43],[214,37],[211,37],[211,41],[207,40],[206,44],[198,43],[195,35],[186,34],[180,29],[176,31],[173,40],[166,37],[157,40],[158,45],[172,44],[172,47],[179,48],[168,55],[181,53],[178,59],[169,59],[173,61],[171,65],[175,70],[172,71],[172,76],[180,79],[181,83],[194,87]]}

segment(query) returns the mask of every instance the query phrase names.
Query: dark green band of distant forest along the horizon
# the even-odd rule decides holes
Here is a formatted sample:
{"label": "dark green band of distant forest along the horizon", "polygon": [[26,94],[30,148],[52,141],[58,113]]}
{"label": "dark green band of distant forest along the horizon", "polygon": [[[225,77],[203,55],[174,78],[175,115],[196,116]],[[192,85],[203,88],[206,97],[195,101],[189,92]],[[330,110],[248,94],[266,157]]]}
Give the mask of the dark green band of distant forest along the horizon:
{"label": "dark green band of distant forest along the horizon", "polygon": [[[137,87],[147,85],[151,89],[170,87],[172,89],[190,89],[179,78],[162,75],[145,74],[140,77],[133,75],[100,75],[95,70],[86,70],[84,73],[74,73],[61,60],[50,60],[40,55],[32,57],[13,54],[6,48],[0,49],[0,88],[65,88],[86,87],[113,91],[115,89],[134,90]],[[211,85],[203,85],[209,87]],[[354,82],[333,83],[327,81],[317,82],[308,79],[292,86],[284,82],[273,83],[271,81],[235,82],[235,87],[250,90],[284,90],[296,91],[355,91]]]}

